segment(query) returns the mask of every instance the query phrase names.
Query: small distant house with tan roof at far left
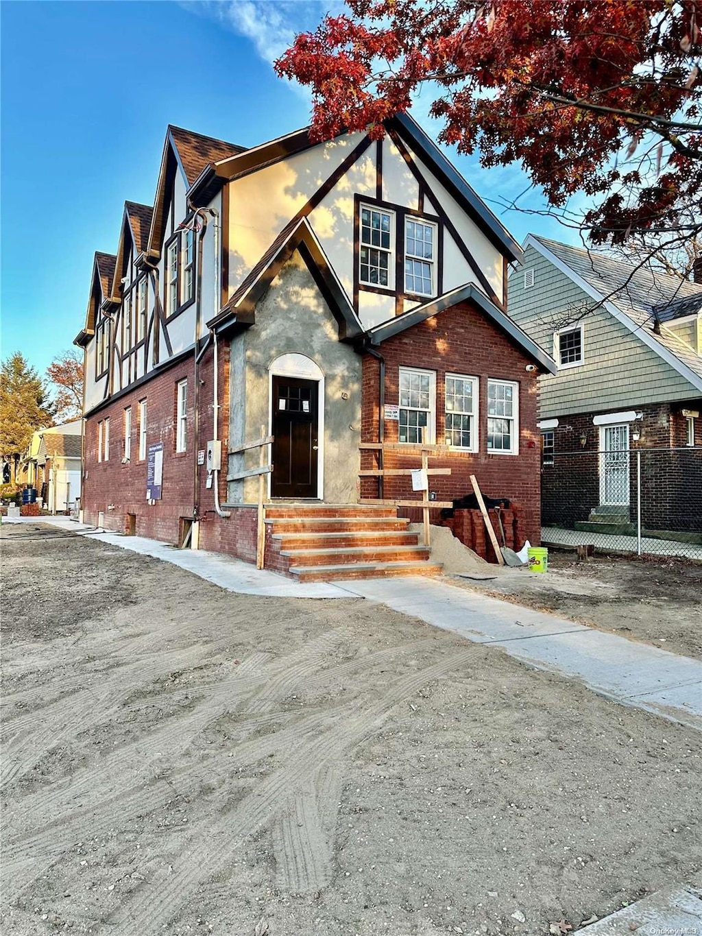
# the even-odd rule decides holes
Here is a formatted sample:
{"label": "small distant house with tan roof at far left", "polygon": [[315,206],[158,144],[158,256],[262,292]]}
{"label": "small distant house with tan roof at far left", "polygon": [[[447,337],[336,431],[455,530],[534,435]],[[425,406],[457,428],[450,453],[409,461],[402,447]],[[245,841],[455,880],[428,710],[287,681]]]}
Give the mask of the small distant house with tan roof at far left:
{"label": "small distant house with tan roof at far left", "polygon": [[70,510],[80,497],[80,428],[75,419],[37,430],[23,459],[26,483],[52,514]]}

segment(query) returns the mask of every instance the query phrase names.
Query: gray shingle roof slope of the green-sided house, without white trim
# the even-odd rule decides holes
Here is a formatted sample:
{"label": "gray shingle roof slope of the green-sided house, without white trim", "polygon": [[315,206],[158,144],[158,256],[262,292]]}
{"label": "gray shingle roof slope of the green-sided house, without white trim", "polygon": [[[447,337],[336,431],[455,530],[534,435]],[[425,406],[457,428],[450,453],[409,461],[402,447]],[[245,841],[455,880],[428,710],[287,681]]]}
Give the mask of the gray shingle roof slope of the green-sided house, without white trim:
{"label": "gray shingle roof slope of the green-sided house, without white trim", "polygon": [[[676,276],[654,273],[649,269],[613,260],[602,254],[559,241],[531,235],[553,256],[592,286],[604,300],[611,302],[634,325],[642,329],[662,348],[674,355],[697,376],[702,377],[702,358],[667,329],[653,331],[656,319],[669,321],[682,314],[693,314],[702,307],[702,285],[679,280]],[[692,305],[692,309],[690,308]],[[680,309],[687,311],[681,312]]]}

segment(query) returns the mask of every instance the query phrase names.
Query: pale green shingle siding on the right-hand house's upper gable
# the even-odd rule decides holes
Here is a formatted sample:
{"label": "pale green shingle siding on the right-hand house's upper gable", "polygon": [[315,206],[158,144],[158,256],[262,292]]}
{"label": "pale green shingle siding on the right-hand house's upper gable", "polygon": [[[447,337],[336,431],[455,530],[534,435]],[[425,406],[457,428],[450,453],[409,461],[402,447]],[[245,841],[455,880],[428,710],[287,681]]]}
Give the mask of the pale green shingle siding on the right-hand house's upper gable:
{"label": "pale green shingle siding on the right-hand house's upper gable", "polygon": [[[534,286],[524,289],[524,271]],[[592,309],[594,300],[529,246],[523,267],[509,277],[509,314],[548,354],[553,331]],[[633,409],[699,397],[699,391],[605,309],[582,319],[584,363],[540,377],[542,418]]]}

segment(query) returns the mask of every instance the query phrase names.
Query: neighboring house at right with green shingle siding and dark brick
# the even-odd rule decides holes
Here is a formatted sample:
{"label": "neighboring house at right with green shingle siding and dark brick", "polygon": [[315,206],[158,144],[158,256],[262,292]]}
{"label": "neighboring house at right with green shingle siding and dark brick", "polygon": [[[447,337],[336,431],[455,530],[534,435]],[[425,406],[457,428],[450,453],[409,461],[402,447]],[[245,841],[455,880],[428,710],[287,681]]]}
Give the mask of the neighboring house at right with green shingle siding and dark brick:
{"label": "neighboring house at right with green shingle siding and dark brick", "polygon": [[702,533],[702,284],[534,235],[523,250],[510,315],[558,365],[540,378],[544,525],[633,522],[639,449],[644,526]]}

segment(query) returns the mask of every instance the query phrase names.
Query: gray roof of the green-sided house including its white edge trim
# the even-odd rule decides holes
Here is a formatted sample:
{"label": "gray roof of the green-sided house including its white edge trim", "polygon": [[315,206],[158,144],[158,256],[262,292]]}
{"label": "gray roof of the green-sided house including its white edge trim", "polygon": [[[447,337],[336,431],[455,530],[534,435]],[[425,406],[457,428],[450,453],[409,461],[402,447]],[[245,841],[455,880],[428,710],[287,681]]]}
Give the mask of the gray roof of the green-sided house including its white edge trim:
{"label": "gray roof of the green-sided house including its white edge trim", "polygon": [[660,329],[660,334],[653,330],[656,321],[662,321],[661,308],[674,307],[681,300],[691,300],[694,305],[697,297],[702,300],[702,285],[665,273],[636,269],[633,264],[621,263],[559,241],[549,241],[535,234],[528,235],[523,247],[526,249],[530,245],[685,380],[702,390],[702,358],[667,329]]}

